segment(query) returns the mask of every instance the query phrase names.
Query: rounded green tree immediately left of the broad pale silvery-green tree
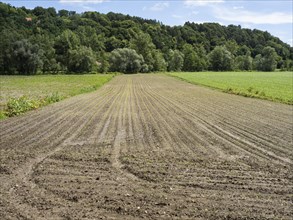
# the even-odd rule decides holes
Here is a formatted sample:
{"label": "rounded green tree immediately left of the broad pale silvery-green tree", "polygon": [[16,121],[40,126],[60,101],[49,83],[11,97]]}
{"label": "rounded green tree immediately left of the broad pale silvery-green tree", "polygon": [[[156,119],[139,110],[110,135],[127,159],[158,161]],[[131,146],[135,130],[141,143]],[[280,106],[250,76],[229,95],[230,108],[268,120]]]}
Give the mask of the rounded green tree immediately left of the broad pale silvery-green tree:
{"label": "rounded green tree immediately left of the broad pale silvery-green tree", "polygon": [[91,72],[96,65],[96,57],[91,48],[80,46],[69,50],[68,70],[74,73]]}

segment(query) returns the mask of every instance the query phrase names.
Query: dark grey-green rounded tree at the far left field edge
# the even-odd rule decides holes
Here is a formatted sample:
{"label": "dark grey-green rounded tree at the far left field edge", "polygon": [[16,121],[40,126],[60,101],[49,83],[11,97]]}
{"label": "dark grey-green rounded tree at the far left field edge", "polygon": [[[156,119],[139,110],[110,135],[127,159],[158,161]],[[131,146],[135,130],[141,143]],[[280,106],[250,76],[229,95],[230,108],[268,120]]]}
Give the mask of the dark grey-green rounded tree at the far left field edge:
{"label": "dark grey-green rounded tree at the far left field edge", "polygon": [[26,39],[16,41],[13,45],[13,59],[19,74],[36,74],[43,65],[42,55],[39,46]]}

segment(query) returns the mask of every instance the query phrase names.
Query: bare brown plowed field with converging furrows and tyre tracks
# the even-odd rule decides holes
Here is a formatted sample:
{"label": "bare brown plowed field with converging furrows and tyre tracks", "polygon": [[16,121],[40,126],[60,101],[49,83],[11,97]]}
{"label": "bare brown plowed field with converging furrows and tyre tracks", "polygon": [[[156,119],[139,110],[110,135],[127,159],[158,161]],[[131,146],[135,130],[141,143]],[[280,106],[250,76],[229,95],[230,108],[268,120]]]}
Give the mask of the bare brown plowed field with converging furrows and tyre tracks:
{"label": "bare brown plowed field with converging furrows and tyre tracks", "polygon": [[0,219],[292,219],[292,114],[117,76],[0,122]]}

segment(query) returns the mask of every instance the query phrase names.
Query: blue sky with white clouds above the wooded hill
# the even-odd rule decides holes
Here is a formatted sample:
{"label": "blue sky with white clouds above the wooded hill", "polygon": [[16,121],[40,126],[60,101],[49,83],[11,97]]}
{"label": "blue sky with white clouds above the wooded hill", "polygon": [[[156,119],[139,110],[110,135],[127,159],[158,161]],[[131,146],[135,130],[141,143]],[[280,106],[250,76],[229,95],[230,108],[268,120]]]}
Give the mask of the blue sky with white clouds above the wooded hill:
{"label": "blue sky with white clouds above the wooded hill", "polygon": [[[2,1],[2,0],[1,0]],[[3,0],[16,7],[54,7],[76,12],[117,12],[166,25],[217,22],[268,31],[293,46],[292,0]]]}

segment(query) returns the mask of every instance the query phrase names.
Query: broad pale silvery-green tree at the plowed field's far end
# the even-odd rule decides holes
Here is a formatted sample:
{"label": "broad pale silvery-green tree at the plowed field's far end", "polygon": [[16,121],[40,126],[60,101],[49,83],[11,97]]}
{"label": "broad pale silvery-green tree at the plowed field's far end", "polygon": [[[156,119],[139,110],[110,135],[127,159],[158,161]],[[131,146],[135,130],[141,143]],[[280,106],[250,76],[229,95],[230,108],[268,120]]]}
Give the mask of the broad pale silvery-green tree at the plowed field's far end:
{"label": "broad pale silvery-green tree at the plowed field's far end", "polygon": [[129,48],[120,48],[110,54],[110,71],[137,73],[141,70],[144,59],[142,55]]}

